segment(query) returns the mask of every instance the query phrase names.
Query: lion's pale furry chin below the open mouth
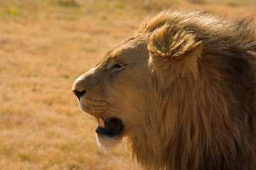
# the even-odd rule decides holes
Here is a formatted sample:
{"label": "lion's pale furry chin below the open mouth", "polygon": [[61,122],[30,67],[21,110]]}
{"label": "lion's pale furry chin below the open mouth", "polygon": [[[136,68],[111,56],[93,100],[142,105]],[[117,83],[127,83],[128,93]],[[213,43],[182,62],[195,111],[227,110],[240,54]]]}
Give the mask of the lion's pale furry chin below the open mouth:
{"label": "lion's pale furry chin below the open mouth", "polygon": [[103,152],[112,152],[115,147],[122,140],[121,135],[115,137],[107,137],[102,134],[96,133],[97,145],[100,147],[100,150]]}

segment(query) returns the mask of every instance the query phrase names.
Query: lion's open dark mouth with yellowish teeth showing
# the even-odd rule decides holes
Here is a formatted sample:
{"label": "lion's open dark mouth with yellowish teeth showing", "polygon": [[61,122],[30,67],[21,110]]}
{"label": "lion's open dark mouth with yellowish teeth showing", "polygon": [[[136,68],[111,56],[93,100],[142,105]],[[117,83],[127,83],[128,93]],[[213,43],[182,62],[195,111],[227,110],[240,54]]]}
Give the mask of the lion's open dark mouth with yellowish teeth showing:
{"label": "lion's open dark mouth with yellowish teeth showing", "polygon": [[117,118],[96,118],[98,127],[96,132],[108,137],[114,137],[122,131],[122,120]]}

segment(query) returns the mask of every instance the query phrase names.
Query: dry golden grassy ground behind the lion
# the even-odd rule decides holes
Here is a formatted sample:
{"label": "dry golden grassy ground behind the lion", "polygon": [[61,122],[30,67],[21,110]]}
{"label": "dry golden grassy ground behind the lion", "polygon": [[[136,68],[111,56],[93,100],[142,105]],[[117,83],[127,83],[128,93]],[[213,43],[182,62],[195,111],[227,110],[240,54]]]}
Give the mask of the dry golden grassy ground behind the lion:
{"label": "dry golden grassy ground behind the lion", "polygon": [[1,0],[0,169],[137,169],[123,147],[99,151],[71,86],[145,16],[175,6],[256,15],[254,0]]}

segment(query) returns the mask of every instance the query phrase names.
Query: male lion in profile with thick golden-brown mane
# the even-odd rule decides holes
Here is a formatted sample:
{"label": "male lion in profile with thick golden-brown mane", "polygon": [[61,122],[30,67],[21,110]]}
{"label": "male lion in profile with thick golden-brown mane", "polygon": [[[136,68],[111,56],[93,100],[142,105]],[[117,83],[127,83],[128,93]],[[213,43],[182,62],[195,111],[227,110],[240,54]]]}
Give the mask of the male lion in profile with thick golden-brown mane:
{"label": "male lion in profile with thick golden-brown mane", "polygon": [[163,11],[73,84],[100,147],[144,169],[256,169],[252,19]]}

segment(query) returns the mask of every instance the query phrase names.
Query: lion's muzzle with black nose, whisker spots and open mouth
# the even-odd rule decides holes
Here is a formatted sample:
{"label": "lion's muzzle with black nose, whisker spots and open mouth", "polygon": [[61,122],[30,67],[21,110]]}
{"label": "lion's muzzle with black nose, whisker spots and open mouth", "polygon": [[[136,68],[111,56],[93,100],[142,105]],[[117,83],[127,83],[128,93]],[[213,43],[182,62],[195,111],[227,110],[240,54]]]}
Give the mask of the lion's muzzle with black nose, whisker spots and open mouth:
{"label": "lion's muzzle with black nose, whisker spots and open mouth", "polygon": [[[97,85],[97,79],[97,77],[92,77],[92,70],[90,70],[75,80],[72,90],[78,97],[82,111],[96,118],[98,127],[95,132],[97,135],[116,137],[122,133],[122,120],[112,116],[109,112],[111,110],[109,103],[102,98],[102,91],[100,92],[99,89],[103,87],[100,83]],[[100,97],[97,95],[98,92],[100,92]]]}

